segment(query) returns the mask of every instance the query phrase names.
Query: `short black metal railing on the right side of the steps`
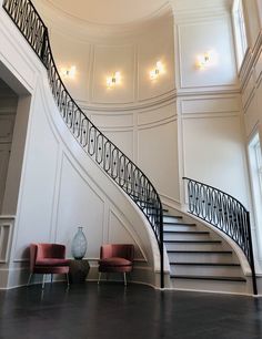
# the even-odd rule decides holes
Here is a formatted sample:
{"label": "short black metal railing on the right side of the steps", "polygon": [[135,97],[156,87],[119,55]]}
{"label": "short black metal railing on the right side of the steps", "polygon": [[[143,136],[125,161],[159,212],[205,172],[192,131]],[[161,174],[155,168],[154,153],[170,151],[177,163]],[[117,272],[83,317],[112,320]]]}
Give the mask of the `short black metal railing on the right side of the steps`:
{"label": "short black metal railing on the right side of the steps", "polygon": [[250,213],[231,195],[189,177],[189,212],[215,226],[234,240],[244,253],[252,271],[253,292],[258,294]]}

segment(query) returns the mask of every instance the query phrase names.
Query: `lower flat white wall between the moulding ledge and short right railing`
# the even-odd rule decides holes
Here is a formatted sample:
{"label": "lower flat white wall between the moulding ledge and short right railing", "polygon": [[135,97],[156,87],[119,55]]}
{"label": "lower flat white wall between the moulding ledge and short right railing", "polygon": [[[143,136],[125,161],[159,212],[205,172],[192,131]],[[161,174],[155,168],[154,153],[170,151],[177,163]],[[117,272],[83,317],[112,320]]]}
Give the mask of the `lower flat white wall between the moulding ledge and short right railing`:
{"label": "lower flat white wall between the moulding ledge and short right railing", "polygon": [[[206,106],[206,101],[213,105],[205,113],[202,105]],[[239,97],[191,99],[182,104],[185,176],[219,187],[250,208]]]}

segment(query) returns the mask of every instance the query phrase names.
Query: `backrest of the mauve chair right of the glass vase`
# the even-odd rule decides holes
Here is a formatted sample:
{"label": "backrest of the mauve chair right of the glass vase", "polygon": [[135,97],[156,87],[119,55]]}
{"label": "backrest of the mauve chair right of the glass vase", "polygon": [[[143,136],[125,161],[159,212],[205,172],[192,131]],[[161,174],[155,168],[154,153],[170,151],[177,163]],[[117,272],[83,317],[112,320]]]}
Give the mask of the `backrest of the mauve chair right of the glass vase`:
{"label": "backrest of the mauve chair right of the glass vase", "polygon": [[100,248],[100,258],[120,257],[133,261],[133,244],[105,244]]}

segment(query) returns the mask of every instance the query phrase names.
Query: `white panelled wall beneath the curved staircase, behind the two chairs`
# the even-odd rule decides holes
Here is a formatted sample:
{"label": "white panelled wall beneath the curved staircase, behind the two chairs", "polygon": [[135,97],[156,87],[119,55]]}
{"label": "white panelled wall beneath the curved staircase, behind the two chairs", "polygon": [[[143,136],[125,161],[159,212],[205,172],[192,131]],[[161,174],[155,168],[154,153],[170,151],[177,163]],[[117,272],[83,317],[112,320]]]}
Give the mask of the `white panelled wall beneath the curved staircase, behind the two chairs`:
{"label": "white panelled wall beneath the curved staircase, behind the two chairs", "polygon": [[[1,76],[16,76],[31,95],[30,106],[28,100],[20,103],[28,109],[29,121],[16,220],[9,233],[12,246],[7,263],[0,263],[0,274],[4,276],[0,287],[27,281],[28,246],[32,242],[61,242],[71,257],[71,240],[80,225],[88,238],[90,278],[97,277],[100,245],[124,242],[135,245],[134,279],[158,286],[154,271],[159,270],[159,254],[150,226],[75,143],[56,107],[46,69],[3,10],[0,10],[0,62],[7,69]],[[17,133],[17,142],[21,141],[20,136]],[[13,154],[19,148],[17,145]],[[7,210],[13,207],[14,172],[9,173]]]}

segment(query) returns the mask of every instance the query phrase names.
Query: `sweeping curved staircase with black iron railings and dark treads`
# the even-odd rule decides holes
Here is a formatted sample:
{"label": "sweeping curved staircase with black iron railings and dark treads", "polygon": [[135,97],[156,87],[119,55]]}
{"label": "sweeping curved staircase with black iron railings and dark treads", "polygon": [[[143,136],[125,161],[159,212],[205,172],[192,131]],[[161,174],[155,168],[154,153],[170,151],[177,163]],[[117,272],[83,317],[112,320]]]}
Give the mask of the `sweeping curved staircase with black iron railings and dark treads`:
{"label": "sweeping curved staircase with black iron railings and dark treads", "polygon": [[[171,268],[171,288],[250,292],[240,261],[225,239],[203,223],[192,222],[188,215],[185,218],[181,213],[162,209],[160,196],[145,174],[93,125],[74,102],[56,66],[48,28],[32,2],[3,0],[3,9],[46,66],[54,102],[75,141],[137,204],[151,225],[160,253],[161,288],[164,287],[164,244]],[[249,212],[218,188],[191,178],[183,179],[188,182],[190,213],[239,245],[250,264],[256,294]]]}

